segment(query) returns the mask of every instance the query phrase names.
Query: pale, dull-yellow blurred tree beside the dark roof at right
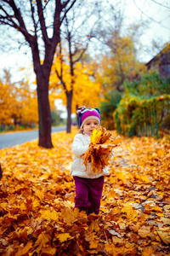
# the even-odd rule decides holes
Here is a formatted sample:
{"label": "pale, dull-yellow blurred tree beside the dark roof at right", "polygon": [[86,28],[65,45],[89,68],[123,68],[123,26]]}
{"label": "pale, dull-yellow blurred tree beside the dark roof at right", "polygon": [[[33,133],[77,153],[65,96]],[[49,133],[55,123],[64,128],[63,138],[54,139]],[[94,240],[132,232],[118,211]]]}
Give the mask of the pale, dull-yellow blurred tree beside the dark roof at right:
{"label": "pale, dull-yellow blurred tree beside the dark roof at right", "polygon": [[107,90],[124,90],[123,83],[133,81],[144,73],[146,67],[137,60],[133,39],[121,37],[119,34],[110,38],[111,54],[104,56],[103,72],[99,75],[99,82],[107,86]]}

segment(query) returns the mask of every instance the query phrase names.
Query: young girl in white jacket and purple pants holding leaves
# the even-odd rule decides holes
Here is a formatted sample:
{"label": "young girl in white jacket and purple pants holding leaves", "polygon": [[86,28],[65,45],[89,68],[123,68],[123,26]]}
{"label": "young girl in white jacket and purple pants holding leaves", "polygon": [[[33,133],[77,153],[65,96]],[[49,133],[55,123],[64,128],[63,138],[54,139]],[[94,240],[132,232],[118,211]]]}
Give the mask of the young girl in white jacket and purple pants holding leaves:
{"label": "young girl in white jacket and purple pants holding leaves", "polygon": [[77,109],[80,117],[79,123],[81,131],[74,137],[72,151],[74,160],[71,165],[71,175],[76,185],[75,207],[87,214],[94,212],[99,214],[100,200],[103,192],[104,176],[110,173],[104,169],[102,173],[94,173],[91,170],[91,164],[83,164],[81,156],[88,149],[90,135],[97,125],[100,125],[99,108]]}

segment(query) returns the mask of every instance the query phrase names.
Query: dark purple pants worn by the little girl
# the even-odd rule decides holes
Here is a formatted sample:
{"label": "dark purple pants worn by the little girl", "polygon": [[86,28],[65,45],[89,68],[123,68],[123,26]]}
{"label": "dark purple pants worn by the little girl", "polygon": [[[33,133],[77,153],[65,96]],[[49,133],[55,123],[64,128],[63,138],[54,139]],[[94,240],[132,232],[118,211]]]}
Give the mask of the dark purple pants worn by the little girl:
{"label": "dark purple pants worn by the little girl", "polygon": [[104,186],[104,176],[86,178],[74,176],[76,185],[75,207],[87,214],[99,213],[100,200]]}

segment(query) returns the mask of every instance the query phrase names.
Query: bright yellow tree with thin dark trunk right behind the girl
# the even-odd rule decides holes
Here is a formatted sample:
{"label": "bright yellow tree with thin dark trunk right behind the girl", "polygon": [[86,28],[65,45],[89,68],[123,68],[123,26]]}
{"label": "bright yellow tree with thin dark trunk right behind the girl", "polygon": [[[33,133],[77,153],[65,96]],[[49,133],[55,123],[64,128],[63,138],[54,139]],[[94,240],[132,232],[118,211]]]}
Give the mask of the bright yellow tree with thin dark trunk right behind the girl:
{"label": "bright yellow tree with thin dark trunk right behind the girl", "polygon": [[[65,53],[66,55],[66,53]],[[91,107],[99,104],[101,87],[94,79],[94,67],[85,61],[67,64],[66,60],[57,52],[50,77],[50,89],[56,91],[56,97],[62,99],[67,107],[68,119],[82,105]],[[70,62],[71,63],[71,62]],[[71,109],[70,109],[71,108]],[[67,132],[71,131],[71,120],[67,121]]]}

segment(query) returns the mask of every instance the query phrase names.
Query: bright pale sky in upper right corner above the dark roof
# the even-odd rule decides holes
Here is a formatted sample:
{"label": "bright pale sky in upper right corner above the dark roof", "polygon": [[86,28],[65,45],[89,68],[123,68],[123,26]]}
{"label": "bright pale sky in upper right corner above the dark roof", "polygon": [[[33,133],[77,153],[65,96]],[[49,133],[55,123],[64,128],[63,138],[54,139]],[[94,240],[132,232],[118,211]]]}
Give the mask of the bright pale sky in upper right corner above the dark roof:
{"label": "bright pale sky in upper right corner above the dark roof", "polygon": [[[139,18],[150,21],[149,29],[142,38],[145,45],[150,46],[153,39],[162,44],[170,43],[170,0],[126,0],[125,6],[127,22]],[[150,52],[145,61],[152,57]]]}

